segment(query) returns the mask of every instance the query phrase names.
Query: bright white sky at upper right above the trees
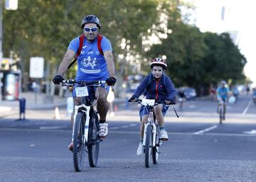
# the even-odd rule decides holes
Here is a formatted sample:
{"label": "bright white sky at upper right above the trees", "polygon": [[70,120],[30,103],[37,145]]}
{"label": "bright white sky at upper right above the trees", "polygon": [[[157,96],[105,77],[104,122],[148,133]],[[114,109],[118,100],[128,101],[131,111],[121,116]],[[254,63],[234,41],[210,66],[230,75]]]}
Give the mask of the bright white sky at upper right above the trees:
{"label": "bright white sky at upper right above the trees", "polygon": [[[196,6],[191,18],[202,32],[238,31],[235,44],[247,58],[245,75],[256,86],[256,10],[255,0],[186,0]],[[223,15],[223,7],[225,13]],[[222,18],[223,17],[223,18]]]}

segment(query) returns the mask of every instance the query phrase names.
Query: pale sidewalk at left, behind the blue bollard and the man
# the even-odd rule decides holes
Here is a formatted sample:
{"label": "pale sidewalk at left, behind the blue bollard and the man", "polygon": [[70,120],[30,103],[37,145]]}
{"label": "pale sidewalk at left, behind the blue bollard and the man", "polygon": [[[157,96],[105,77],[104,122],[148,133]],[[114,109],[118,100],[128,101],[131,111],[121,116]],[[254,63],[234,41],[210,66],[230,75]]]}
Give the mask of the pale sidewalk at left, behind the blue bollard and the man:
{"label": "pale sidewalk at left, behind the blue bollard and the man", "polygon": [[[71,94],[70,94],[71,96]],[[67,112],[67,97],[46,96],[46,93],[20,93],[20,98],[26,99],[26,119],[61,119],[70,120]],[[124,98],[116,98],[114,105],[124,105]],[[0,118],[18,119],[19,101],[1,101]]]}

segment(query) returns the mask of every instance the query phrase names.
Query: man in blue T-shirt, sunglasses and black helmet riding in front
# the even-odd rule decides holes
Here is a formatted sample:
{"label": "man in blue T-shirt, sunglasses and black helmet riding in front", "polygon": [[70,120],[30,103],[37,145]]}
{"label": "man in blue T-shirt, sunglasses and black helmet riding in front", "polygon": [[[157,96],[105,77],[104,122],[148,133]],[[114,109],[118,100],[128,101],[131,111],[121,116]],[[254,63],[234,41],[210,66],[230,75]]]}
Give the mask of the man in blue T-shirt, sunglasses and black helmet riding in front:
{"label": "man in blue T-shirt, sunglasses and black helmet riding in front", "polygon": [[[63,81],[63,74],[68,69],[73,58],[78,57],[78,71],[75,79],[78,81],[106,81],[107,85],[114,86],[117,79],[114,77],[114,58],[112,55],[112,46],[110,40],[105,36],[100,35],[100,20],[97,16],[87,15],[82,18],[81,28],[83,34],[74,38],[68,46],[67,52],[63,57],[63,61],[60,63],[58,73],[53,78],[54,84],[60,84]],[[83,37],[84,36],[84,37]],[[102,39],[99,45],[99,39]],[[80,45],[82,43],[82,45]],[[99,46],[101,48],[99,48]],[[102,50],[100,50],[102,49]],[[80,50],[80,52],[79,52]],[[101,53],[102,52],[102,53]],[[97,110],[100,114],[100,137],[107,136],[107,123],[106,116],[108,111],[107,102],[107,90],[103,87],[99,87]],[[75,91],[73,91],[74,108],[81,103],[81,99],[76,97]],[[73,115],[71,117],[71,124],[74,122],[74,108]],[[68,146],[69,150],[73,150],[73,142]]]}

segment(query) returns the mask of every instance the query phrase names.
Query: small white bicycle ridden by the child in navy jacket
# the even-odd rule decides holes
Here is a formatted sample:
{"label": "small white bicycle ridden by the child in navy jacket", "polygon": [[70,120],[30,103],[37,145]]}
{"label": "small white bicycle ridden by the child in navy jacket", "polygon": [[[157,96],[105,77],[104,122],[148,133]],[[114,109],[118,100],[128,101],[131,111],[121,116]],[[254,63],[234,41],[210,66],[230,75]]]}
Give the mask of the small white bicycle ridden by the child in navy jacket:
{"label": "small white bicycle ridden by the child in navy jacket", "polygon": [[[161,105],[169,106],[172,108],[174,107],[171,105],[166,105],[165,103],[155,103],[155,100],[145,99],[145,98],[143,100],[137,99],[135,102],[141,103],[143,106],[146,106],[147,108],[149,108],[149,119],[148,119],[148,122],[145,123],[144,136],[143,136],[145,167],[149,168],[149,166],[151,165],[151,159],[153,161],[153,164],[158,163],[158,157],[160,154],[159,147],[162,145],[162,141],[159,138],[160,127],[154,115],[154,106],[161,104]],[[175,108],[174,108],[174,111],[176,113]],[[177,113],[176,113],[176,116],[178,117]]]}

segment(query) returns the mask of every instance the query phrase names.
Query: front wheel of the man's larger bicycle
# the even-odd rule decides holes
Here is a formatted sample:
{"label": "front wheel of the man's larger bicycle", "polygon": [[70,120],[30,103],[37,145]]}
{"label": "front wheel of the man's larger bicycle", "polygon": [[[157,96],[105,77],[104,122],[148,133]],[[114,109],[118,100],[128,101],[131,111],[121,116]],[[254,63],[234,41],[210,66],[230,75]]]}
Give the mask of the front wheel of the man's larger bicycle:
{"label": "front wheel of the man's larger bicycle", "polygon": [[73,130],[73,164],[75,171],[81,171],[85,159],[85,144],[82,144],[82,135],[85,130],[85,115],[78,113]]}

